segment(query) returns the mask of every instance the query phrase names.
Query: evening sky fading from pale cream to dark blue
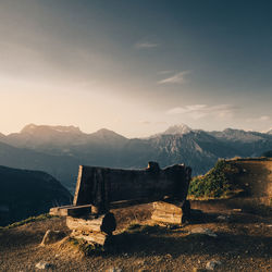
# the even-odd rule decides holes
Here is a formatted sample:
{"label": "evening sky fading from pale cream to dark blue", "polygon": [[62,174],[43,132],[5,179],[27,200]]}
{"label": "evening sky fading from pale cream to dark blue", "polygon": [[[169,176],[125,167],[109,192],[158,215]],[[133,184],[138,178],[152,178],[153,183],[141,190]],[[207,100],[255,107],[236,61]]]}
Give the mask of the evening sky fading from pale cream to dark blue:
{"label": "evening sky fading from pale cream to dark blue", "polygon": [[272,2],[0,0],[0,132],[272,127]]}

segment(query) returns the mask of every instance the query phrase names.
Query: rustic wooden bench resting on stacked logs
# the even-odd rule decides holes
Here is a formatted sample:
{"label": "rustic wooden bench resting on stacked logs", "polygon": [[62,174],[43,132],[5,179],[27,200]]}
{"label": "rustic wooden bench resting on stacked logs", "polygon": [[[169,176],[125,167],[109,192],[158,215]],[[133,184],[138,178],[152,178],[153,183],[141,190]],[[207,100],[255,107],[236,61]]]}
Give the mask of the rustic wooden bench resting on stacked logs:
{"label": "rustic wooden bench resting on stacked logs", "polygon": [[54,207],[50,214],[66,217],[72,236],[103,245],[116,227],[112,209],[153,205],[151,219],[182,224],[189,217],[186,201],[191,169],[175,164],[144,170],[79,166],[72,206]]}

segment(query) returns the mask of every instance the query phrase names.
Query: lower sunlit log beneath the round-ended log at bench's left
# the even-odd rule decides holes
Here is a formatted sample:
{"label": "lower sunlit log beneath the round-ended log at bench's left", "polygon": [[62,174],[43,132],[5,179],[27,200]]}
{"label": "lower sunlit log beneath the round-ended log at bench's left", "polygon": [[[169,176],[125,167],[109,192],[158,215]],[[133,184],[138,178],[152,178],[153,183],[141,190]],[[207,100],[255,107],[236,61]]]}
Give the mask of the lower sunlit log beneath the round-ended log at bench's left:
{"label": "lower sunlit log beneath the round-ended log at bench's left", "polygon": [[111,240],[112,236],[102,232],[84,233],[84,232],[74,231],[71,233],[71,237],[76,238],[76,239],[84,239],[89,244],[96,243],[96,244],[103,246]]}

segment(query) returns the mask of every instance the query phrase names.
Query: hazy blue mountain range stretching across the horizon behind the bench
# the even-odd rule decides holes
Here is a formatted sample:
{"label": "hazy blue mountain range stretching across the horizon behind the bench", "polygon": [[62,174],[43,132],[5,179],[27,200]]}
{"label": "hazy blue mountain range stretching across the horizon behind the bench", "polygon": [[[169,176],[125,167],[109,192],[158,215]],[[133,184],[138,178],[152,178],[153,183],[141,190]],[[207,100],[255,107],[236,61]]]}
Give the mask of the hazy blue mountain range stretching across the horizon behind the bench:
{"label": "hazy blue mountain range stretching across the horizon behind the bench", "polygon": [[138,169],[153,160],[161,166],[185,163],[198,175],[219,158],[256,157],[271,149],[271,132],[206,132],[183,124],[132,139],[106,128],[86,134],[75,126],[35,124],[20,133],[0,134],[0,164],[46,171],[71,190],[79,164]]}

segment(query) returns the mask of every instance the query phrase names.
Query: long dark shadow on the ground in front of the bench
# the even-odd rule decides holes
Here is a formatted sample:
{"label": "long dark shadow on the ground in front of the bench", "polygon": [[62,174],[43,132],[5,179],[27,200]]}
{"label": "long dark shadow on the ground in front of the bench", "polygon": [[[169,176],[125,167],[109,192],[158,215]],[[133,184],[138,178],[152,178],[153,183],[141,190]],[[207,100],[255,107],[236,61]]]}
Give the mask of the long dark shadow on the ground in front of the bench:
{"label": "long dark shadow on the ground in front of the bench", "polygon": [[181,255],[227,254],[230,257],[239,256],[240,258],[245,256],[272,257],[271,237],[228,233],[217,233],[215,238],[200,234],[172,237],[168,236],[169,234],[171,231],[158,226],[125,232],[114,236],[113,244],[108,246],[104,255],[165,256],[165,254],[170,254],[173,258],[177,258]]}

